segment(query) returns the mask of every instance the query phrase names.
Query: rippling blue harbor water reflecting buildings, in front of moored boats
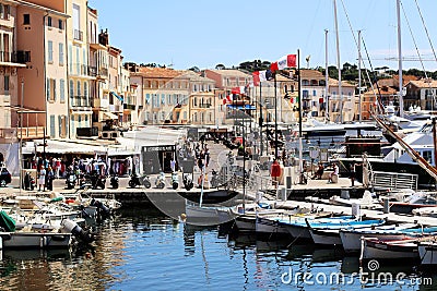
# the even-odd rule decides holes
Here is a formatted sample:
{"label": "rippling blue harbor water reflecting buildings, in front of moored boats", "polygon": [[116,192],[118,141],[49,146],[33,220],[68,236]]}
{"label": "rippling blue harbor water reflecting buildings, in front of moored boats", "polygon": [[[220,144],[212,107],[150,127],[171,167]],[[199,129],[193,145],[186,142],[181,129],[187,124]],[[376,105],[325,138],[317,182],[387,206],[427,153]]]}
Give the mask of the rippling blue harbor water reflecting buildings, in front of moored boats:
{"label": "rippling blue harbor water reflecting buildings, in front of moored boats", "polygon": [[96,229],[93,247],[3,251],[1,290],[437,289],[435,272],[405,262],[361,269],[357,255],[339,248],[231,227],[188,226],[155,208],[120,209]]}

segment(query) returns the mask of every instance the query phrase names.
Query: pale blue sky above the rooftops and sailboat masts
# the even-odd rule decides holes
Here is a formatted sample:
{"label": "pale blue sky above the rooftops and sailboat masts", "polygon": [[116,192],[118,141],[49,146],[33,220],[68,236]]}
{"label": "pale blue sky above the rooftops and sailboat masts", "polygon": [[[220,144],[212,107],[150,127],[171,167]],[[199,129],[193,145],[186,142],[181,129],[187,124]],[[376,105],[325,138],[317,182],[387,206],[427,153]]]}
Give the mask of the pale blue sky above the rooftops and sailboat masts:
{"label": "pale blue sky above the rooftops and sailboat masts", "polygon": [[[416,2],[437,49],[436,0],[402,0],[403,57],[437,70]],[[398,69],[395,0],[336,0],[341,63],[357,63],[352,29],[362,31],[374,68]],[[121,5],[121,4],[123,5]],[[329,64],[336,64],[332,0],[90,0],[97,9],[99,28],[122,50],[125,61],[174,64],[175,69],[226,66],[261,59],[275,61],[300,49],[300,66],[324,66],[324,29],[329,31]],[[410,32],[410,27],[412,33]],[[364,45],[363,56],[365,56]],[[366,68],[369,68],[366,62]],[[422,70],[420,62],[403,68]]]}

